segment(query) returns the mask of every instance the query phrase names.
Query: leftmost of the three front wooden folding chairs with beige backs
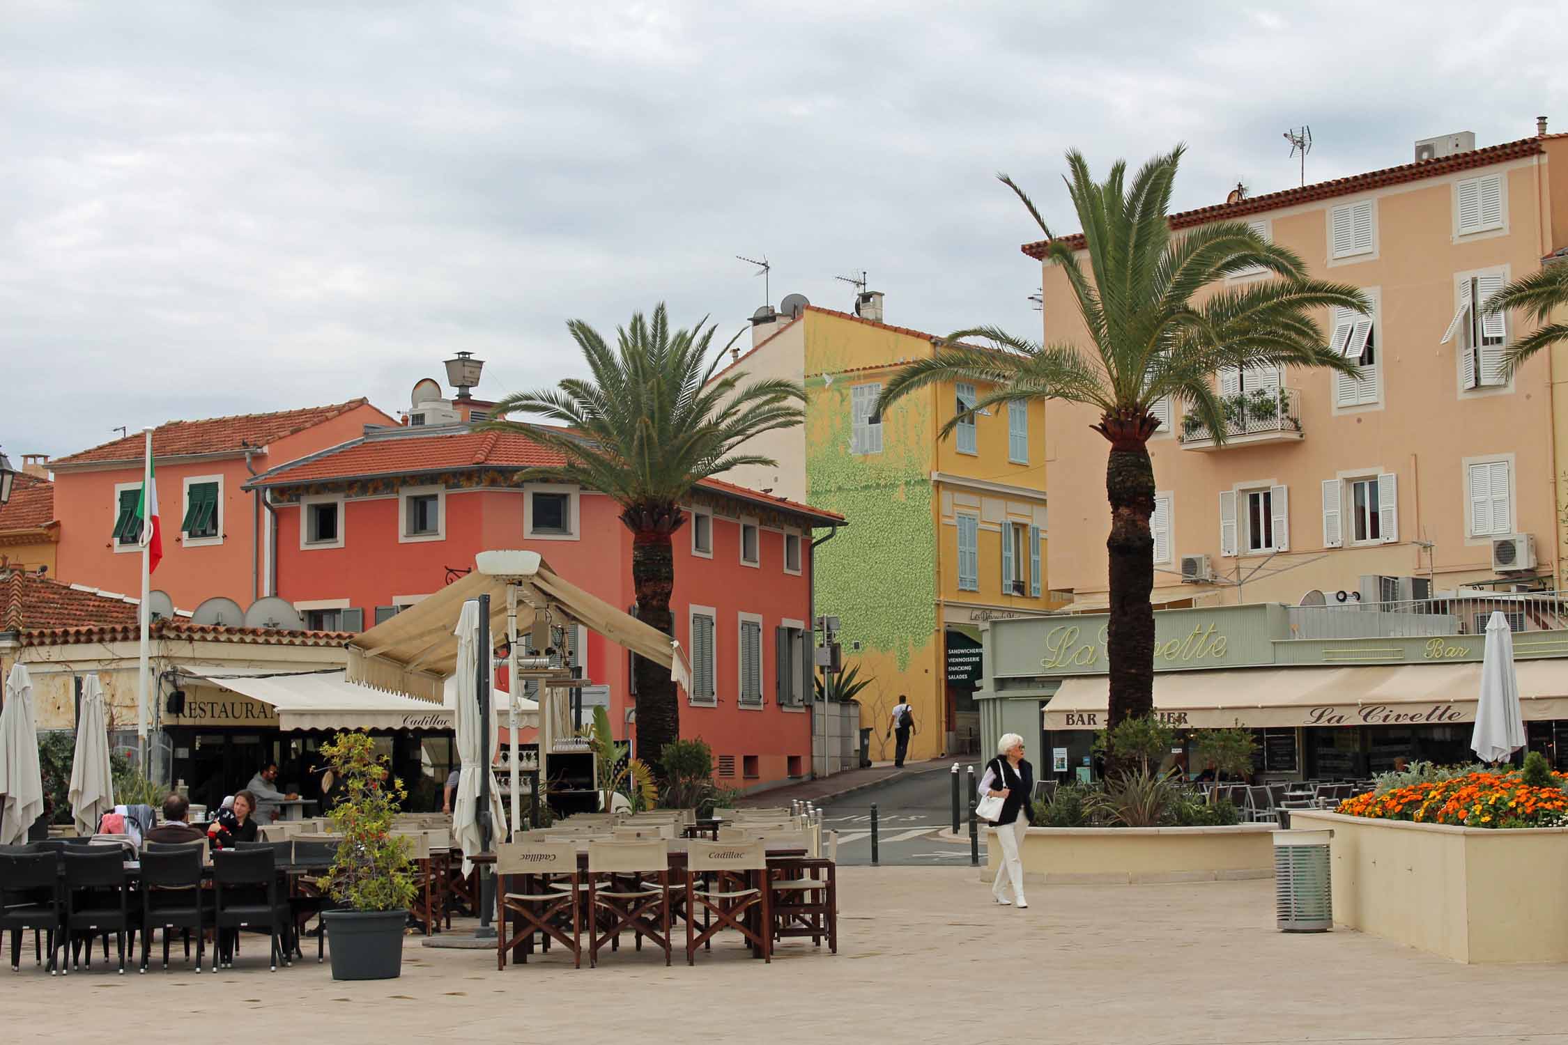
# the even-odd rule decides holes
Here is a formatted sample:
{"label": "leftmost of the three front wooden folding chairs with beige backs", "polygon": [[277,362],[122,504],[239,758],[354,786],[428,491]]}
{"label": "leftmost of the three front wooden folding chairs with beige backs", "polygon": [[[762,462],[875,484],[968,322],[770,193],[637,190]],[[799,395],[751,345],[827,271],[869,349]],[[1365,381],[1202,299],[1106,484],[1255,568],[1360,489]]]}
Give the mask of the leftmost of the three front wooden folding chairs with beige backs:
{"label": "leftmost of the three front wooden folding chairs with beige backs", "polygon": [[[532,832],[530,832],[532,833]],[[533,934],[571,948],[572,968],[583,967],[582,890],[577,877],[577,846],[572,841],[506,841],[495,846],[495,968],[506,968],[506,951],[519,964],[528,962]],[[514,888],[506,876],[525,876]],[[513,915],[517,931],[506,932],[506,915]],[[571,935],[561,927],[561,915],[571,917]]]}

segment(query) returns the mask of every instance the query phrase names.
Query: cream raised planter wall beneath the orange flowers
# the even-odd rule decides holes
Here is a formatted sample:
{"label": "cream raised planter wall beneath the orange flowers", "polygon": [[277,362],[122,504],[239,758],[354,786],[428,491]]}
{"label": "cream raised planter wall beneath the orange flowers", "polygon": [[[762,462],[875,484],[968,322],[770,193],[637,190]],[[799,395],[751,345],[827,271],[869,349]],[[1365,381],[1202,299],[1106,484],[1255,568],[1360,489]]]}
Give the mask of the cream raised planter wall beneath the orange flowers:
{"label": "cream raised planter wall beneath the orange flowers", "polygon": [[1334,924],[1455,962],[1568,962],[1568,827],[1486,830],[1300,812],[1328,827]]}

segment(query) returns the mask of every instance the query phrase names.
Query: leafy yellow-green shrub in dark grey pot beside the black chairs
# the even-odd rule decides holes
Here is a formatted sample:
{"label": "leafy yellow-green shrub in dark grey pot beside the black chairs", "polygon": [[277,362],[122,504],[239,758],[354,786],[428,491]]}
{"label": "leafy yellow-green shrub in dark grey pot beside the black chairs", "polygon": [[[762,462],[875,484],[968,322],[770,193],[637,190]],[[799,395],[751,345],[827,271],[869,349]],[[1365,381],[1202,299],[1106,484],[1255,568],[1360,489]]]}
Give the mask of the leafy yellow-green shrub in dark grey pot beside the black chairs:
{"label": "leafy yellow-green shrub in dark grey pot beside the black chairs", "polygon": [[321,755],[343,796],[331,812],[343,840],[326,876],[339,909],[321,912],[332,979],[392,979],[403,971],[403,926],[416,893],[408,841],[392,837],[392,818],[408,791],[365,733],[339,733]]}

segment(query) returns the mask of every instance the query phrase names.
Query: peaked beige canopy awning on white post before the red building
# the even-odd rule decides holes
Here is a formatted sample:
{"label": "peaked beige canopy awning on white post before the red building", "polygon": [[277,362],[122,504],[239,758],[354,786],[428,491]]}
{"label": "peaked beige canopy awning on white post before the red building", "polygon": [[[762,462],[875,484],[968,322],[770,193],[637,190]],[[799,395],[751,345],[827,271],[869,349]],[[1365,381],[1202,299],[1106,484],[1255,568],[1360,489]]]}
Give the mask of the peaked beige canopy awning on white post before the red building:
{"label": "peaked beige canopy awning on white post before the red building", "polygon": [[552,624],[582,624],[670,667],[671,677],[690,689],[691,669],[668,635],[569,583],[536,551],[481,551],[467,577],[356,635],[348,642],[348,680],[441,703],[442,685],[456,669],[453,628],[463,603],[488,594],[491,633],[503,636],[508,586],[517,588],[519,635],[533,628],[536,613],[549,613]]}

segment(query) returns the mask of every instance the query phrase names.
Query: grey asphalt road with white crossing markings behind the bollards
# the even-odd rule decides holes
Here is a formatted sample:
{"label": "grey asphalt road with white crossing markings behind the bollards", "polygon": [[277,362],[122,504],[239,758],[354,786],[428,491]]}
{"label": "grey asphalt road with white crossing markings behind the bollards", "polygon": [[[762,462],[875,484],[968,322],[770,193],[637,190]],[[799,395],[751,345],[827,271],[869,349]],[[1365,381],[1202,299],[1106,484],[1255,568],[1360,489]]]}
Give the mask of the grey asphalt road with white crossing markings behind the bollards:
{"label": "grey asphalt road with white crossing markings behind the bollards", "polygon": [[[967,765],[958,766],[964,816],[969,810]],[[878,863],[961,866],[969,862],[967,838],[955,844],[936,837],[936,832],[952,827],[952,772],[938,769],[855,791],[823,805],[823,827],[839,832],[839,863],[864,866],[872,862],[873,802]]]}

